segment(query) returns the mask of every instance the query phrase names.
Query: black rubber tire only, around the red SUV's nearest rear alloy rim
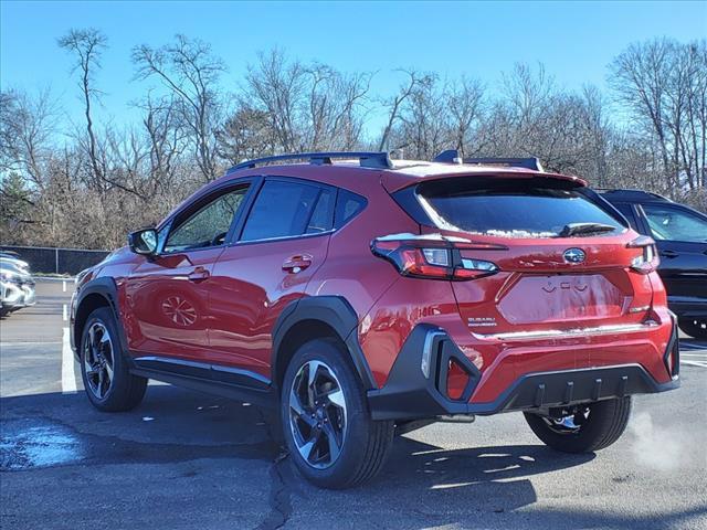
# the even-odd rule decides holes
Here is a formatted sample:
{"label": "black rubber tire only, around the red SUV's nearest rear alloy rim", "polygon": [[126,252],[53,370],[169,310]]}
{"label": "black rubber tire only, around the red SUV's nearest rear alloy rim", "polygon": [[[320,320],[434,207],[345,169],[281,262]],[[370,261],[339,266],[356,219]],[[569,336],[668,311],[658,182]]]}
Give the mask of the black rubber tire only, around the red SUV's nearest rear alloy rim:
{"label": "black rubber tire only, around the red SUV's nearest rear alloy rim", "polygon": [[[307,414],[295,414],[291,412],[291,390],[296,379],[303,381],[303,371],[309,370],[313,361],[324,363],[325,374],[331,370],[336,384],[340,386],[345,400],[346,430],[341,433],[342,443],[340,453],[334,462],[327,463],[328,467],[317,468],[315,464],[308,462],[297,446],[294,431],[297,422],[291,424],[293,417],[309,416],[309,412],[315,409],[307,406]],[[317,372],[319,369],[315,369]],[[307,385],[307,388],[309,388]],[[324,395],[324,394],[318,394]],[[321,398],[319,398],[321,400]],[[321,406],[321,405],[320,405]],[[335,406],[336,405],[324,405]],[[330,411],[330,409],[329,409]],[[340,413],[341,409],[339,409]],[[336,411],[335,411],[336,412]],[[318,413],[318,412],[317,412]],[[330,417],[326,412],[326,417]],[[314,417],[314,415],[312,416]],[[317,420],[313,420],[316,422]],[[285,443],[289,451],[291,458],[299,473],[312,484],[320,488],[345,489],[358,486],[374,477],[383,467],[393,441],[394,424],[390,421],[376,422],[371,420],[366,392],[360,383],[356,370],[351,363],[348,352],[341,344],[333,339],[312,340],[295,352],[292,358],[281,391],[281,422]],[[308,422],[308,420],[307,420]],[[340,423],[340,422],[339,422]],[[294,425],[294,426],[293,426]],[[334,425],[334,420],[329,425]],[[305,428],[307,428],[305,426]],[[312,427],[315,428],[314,426]],[[314,431],[312,431],[314,432]],[[310,436],[310,439],[318,439]],[[303,438],[300,438],[303,439]],[[319,442],[316,442],[319,443]],[[326,443],[324,446],[326,453]],[[316,449],[319,452],[319,449]]]}

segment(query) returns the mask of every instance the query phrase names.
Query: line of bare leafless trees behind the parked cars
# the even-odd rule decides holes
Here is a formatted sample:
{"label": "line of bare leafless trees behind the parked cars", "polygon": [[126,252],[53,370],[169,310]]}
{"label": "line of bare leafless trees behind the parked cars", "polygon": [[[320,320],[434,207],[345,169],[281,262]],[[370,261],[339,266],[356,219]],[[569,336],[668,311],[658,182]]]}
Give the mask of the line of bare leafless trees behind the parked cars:
{"label": "line of bare leafless trees behind the parked cars", "polygon": [[363,146],[421,159],[447,148],[463,157],[537,156],[549,170],[594,186],[642,188],[707,211],[704,40],[629,46],[609,68],[612,93],[562,88],[541,64],[518,64],[493,92],[464,76],[399,71],[398,91],[380,97],[370,73],[273,50],[226,96],[223,63],[208,44],[178,35],[166,46],[134,49],[136,78],[148,86],[134,104],[137,120],[119,126],[95,112],[105,38],[74,30],[59,43],[78,74],[80,129],[61,121],[48,92],[0,93],[3,242],[114,247],[226,163]]}

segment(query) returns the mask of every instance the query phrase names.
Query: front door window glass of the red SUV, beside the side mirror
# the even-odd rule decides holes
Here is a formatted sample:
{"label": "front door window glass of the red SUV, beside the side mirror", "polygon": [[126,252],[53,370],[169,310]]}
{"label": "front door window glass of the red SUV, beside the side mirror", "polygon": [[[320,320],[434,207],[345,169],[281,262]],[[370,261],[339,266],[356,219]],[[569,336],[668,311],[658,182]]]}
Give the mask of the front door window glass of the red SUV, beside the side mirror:
{"label": "front door window glass of the red SUV, beside the side mirror", "polygon": [[219,195],[179,222],[169,233],[163,252],[222,245],[247,187]]}

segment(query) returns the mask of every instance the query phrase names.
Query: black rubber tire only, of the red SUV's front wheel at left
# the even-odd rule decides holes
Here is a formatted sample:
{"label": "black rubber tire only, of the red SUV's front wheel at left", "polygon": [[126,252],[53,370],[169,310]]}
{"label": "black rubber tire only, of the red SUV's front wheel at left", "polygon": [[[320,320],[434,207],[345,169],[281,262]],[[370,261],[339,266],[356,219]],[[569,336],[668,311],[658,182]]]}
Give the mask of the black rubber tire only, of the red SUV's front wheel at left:
{"label": "black rubber tire only, of the red SUV's front wheel at left", "polygon": [[[112,352],[107,347],[103,347],[103,356],[105,364],[112,367],[113,378],[108,384],[96,384],[96,375],[87,374],[87,364],[92,363],[92,359],[86,362],[86,357],[92,356],[88,348],[89,335],[92,328],[101,329],[103,326],[108,333]],[[124,357],[119,346],[118,330],[113,317],[113,311],[107,307],[99,307],[94,310],[88,318],[81,335],[81,378],[84,382],[84,389],[91,403],[104,412],[124,412],[135,409],[145,395],[147,388],[147,379],[133,375],[129,371],[128,363]],[[94,356],[95,357],[95,356]],[[104,372],[105,374],[105,372]],[[99,386],[103,390],[98,395],[93,389]],[[101,392],[99,392],[101,393]]]}

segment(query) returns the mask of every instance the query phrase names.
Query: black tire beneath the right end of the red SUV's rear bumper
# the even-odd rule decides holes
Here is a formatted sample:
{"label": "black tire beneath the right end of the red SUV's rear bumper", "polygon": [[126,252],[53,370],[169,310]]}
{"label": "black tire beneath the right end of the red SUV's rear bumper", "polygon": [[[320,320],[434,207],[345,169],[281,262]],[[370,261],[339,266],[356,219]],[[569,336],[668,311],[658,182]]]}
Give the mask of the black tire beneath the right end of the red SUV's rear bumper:
{"label": "black tire beneath the right end of the red SUV's rear bumper", "polygon": [[[546,445],[562,453],[591,453],[609,447],[623,434],[631,415],[631,398],[590,403],[577,430],[564,430],[539,414],[525,413],[530,428]],[[579,422],[578,422],[579,423]]]}

